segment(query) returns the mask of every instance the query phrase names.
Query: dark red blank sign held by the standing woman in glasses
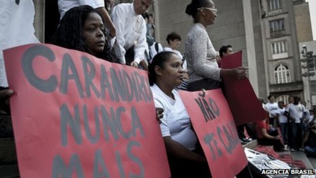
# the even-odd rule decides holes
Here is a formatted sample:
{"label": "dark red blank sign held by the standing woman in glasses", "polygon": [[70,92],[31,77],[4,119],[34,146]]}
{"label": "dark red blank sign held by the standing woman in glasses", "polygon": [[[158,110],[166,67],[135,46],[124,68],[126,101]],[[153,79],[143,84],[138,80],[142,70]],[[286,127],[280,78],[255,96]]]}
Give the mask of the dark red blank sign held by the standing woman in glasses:
{"label": "dark red blank sign held by the standing woman in glasses", "polygon": [[[222,60],[222,68],[242,66],[242,51],[228,55]],[[254,122],[268,117],[263,110],[248,78],[235,80],[224,77],[225,97],[229,103],[236,125]]]}

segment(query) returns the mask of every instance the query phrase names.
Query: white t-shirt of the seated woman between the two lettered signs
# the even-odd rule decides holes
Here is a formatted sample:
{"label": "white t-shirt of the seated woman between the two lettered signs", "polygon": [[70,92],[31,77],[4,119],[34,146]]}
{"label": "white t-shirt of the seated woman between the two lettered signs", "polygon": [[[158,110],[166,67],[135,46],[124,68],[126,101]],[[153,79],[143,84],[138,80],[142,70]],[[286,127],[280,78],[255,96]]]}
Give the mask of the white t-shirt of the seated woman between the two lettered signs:
{"label": "white t-shirt of the seated woman between the two lettered signs", "polygon": [[189,115],[184,107],[182,99],[177,90],[172,90],[175,99],[167,96],[155,84],[151,87],[154,104],[156,108],[164,109],[164,117],[160,124],[164,136],[171,138],[189,150],[194,150],[198,138],[191,129]]}

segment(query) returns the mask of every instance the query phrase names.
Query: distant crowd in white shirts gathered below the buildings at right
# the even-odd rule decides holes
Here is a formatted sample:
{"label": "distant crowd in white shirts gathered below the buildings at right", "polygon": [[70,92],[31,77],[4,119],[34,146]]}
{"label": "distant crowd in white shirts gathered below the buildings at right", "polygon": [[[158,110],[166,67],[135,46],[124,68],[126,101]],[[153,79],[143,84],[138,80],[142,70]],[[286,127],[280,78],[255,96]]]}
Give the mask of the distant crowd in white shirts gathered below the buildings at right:
{"label": "distant crowd in white shirts gathered below the buildings at right", "polygon": [[[307,110],[300,96],[289,96],[286,105],[284,101],[275,102],[273,95],[267,99],[268,102],[262,104],[269,117],[256,127],[259,144],[273,145],[277,150],[305,151],[309,156],[316,156],[316,108]],[[263,102],[262,98],[260,100]]]}

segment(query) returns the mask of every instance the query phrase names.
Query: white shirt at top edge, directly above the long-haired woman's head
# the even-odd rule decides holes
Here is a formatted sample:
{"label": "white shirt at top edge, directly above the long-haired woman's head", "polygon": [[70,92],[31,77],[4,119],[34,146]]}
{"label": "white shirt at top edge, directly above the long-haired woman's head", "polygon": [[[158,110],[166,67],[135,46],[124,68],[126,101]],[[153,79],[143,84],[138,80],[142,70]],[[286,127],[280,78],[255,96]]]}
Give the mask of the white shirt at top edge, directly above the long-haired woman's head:
{"label": "white shirt at top edge, directly above the long-haired woman's head", "polygon": [[104,7],[104,0],[58,0],[60,19],[69,9],[83,5],[89,5],[94,9],[102,8]]}

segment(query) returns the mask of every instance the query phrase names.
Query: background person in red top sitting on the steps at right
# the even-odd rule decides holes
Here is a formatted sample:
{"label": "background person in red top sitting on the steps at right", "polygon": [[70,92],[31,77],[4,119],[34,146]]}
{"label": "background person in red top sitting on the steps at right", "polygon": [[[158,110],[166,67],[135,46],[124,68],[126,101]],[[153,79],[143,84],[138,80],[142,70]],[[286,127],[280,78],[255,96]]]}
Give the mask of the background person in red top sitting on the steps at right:
{"label": "background person in red top sitting on the steps at right", "polygon": [[284,150],[284,146],[280,140],[280,135],[278,135],[278,130],[272,130],[269,128],[268,118],[257,121],[256,132],[259,145],[273,146],[275,151]]}

